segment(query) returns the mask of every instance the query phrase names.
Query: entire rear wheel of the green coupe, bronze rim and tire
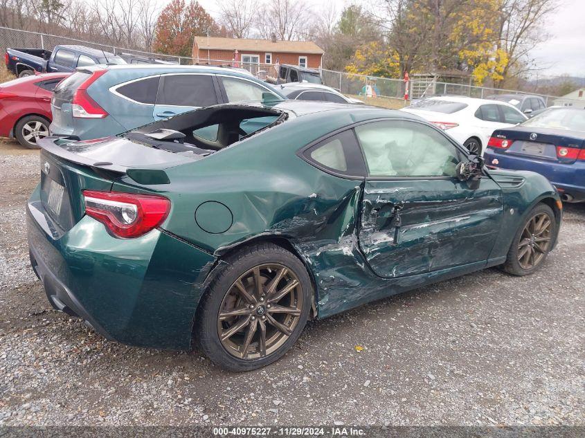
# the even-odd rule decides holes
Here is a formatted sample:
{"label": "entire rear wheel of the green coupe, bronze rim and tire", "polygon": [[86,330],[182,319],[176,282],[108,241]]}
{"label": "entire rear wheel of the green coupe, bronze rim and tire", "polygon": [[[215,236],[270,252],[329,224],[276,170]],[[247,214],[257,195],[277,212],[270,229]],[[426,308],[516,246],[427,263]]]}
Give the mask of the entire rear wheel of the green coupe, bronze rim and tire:
{"label": "entire rear wheel of the green coupe, bronze rim and tire", "polygon": [[209,358],[231,371],[276,361],[309,317],[312,286],[305,266],[284,248],[250,246],[226,259],[197,312],[195,336]]}

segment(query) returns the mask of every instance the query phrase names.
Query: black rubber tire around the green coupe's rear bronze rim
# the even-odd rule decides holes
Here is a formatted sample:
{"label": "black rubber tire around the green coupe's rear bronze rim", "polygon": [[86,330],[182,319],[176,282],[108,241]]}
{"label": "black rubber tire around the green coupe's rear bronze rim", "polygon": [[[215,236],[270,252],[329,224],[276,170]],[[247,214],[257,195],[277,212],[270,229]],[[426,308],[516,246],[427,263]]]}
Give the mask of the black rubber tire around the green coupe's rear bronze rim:
{"label": "black rubber tire around the green coupe's rear bronze rim", "polygon": [[[312,285],[309,279],[309,274],[307,273],[305,265],[300,262],[297,257],[281,246],[271,243],[255,244],[243,248],[231,257],[228,257],[226,262],[226,267],[215,276],[215,279],[211,282],[204,297],[201,299],[201,304],[199,305],[195,320],[194,335],[197,336],[197,343],[205,354],[211,359],[211,361],[220,367],[235,372],[249,371],[251,369],[264,367],[265,365],[269,365],[281,358],[287,350],[296,343],[296,340],[305,327],[307,319],[309,318],[312,298]],[[235,282],[237,280],[240,281],[242,275],[246,275],[247,272],[256,266],[261,266],[263,264],[278,264],[286,267],[291,273],[294,273],[300,284],[301,291],[298,293],[302,293],[302,309],[300,309],[300,315],[295,317],[298,319],[296,319],[296,326],[292,330],[292,333],[288,338],[285,338],[285,340],[283,339],[280,346],[275,347],[275,351],[270,354],[267,354],[266,351],[265,343],[267,329],[270,327],[271,330],[276,330],[276,328],[274,328],[276,326],[273,327],[269,325],[269,321],[266,320],[266,322],[262,323],[265,325],[264,327],[267,327],[264,329],[264,354],[266,355],[258,358],[238,358],[234,356],[233,352],[228,352],[227,347],[222,344],[222,340],[219,336],[219,328],[222,324],[221,319],[219,318],[220,308],[224,305],[224,298],[228,298],[229,292],[232,290],[232,286]],[[267,286],[267,284],[264,284],[263,287],[265,286]],[[247,304],[244,307],[247,307]],[[254,313],[254,315],[256,314]],[[258,315],[262,315],[262,313],[258,313]],[[262,320],[267,316],[262,316]],[[258,325],[260,325],[260,320],[258,320]],[[243,330],[244,329],[242,329],[242,331]],[[239,336],[237,333],[236,336]],[[275,333],[278,335],[278,331],[275,331]],[[258,347],[254,348],[260,349],[260,340],[258,339],[260,332],[253,336],[254,339],[257,339],[253,345],[258,345]],[[252,346],[252,344],[250,345]]]}

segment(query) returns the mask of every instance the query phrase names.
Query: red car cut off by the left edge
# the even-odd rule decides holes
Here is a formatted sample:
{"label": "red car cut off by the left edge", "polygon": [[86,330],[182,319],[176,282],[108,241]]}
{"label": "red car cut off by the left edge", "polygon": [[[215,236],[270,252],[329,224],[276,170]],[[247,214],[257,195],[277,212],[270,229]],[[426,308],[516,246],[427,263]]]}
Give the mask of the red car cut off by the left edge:
{"label": "red car cut off by the left edge", "polygon": [[70,74],[44,73],[0,84],[0,136],[37,149],[37,140],[48,136],[53,89]]}

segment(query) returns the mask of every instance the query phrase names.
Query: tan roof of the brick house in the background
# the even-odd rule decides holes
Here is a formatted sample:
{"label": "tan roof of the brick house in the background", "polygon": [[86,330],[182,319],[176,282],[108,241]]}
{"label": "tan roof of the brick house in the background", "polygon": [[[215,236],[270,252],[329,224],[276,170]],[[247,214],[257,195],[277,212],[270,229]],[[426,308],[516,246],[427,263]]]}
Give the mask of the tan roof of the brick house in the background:
{"label": "tan roof of the brick house in the background", "polygon": [[244,39],[195,37],[195,44],[203,50],[238,52],[310,53],[323,55],[323,49],[312,41],[276,41],[270,39]]}

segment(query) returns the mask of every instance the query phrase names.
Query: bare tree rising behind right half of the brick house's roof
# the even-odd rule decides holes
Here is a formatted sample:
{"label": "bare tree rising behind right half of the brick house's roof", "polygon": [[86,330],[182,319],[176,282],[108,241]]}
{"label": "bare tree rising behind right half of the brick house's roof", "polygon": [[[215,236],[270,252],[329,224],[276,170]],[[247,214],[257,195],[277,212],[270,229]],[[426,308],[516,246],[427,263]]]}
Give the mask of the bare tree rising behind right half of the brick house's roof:
{"label": "bare tree rising behind right half of the brick house's roof", "polygon": [[259,11],[256,26],[264,39],[273,35],[280,40],[298,39],[307,29],[309,15],[303,0],[272,0]]}

